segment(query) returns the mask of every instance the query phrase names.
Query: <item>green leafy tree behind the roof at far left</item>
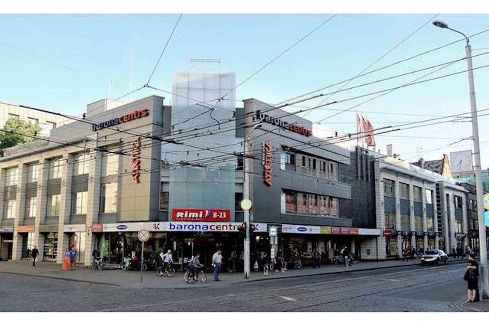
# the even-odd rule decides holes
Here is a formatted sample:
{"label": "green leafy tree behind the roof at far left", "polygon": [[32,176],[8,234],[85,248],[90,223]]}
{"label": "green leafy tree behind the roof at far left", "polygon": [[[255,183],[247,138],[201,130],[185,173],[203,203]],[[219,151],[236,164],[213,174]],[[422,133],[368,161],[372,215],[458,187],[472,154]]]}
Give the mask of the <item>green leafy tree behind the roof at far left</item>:
{"label": "green leafy tree behind the roof at far left", "polygon": [[30,142],[39,135],[41,127],[38,124],[31,124],[21,119],[10,118],[5,122],[5,126],[0,131],[0,156],[3,150],[18,144]]}

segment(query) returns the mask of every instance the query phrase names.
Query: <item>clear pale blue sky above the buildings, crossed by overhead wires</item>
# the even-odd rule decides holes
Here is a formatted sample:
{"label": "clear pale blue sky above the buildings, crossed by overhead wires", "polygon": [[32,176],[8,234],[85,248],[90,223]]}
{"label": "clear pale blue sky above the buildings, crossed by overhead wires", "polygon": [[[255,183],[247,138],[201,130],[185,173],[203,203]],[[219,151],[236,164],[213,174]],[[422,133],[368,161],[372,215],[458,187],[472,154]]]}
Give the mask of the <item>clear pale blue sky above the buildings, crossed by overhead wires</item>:
{"label": "clear pale blue sky above the buildings, crossed by overhead wires", "polygon": [[[330,16],[184,14],[151,84],[171,90],[173,73],[187,70],[189,58],[221,59],[221,71],[236,72],[239,84]],[[239,87],[236,98],[255,97],[276,103],[353,77],[433,16],[340,14]],[[436,19],[470,35],[489,28],[488,18],[488,15],[441,14]],[[2,15],[0,102],[79,115],[88,103],[108,97],[111,80],[112,98],[130,90],[130,49],[132,85],[142,86],[177,19],[178,15]],[[371,69],[457,39],[458,34],[427,24]],[[486,48],[474,50],[474,55],[489,51],[489,32],[474,37],[471,44],[473,49]],[[464,45],[456,43],[358,78],[348,87],[459,59],[465,55]],[[487,64],[489,54],[474,58],[474,67]],[[466,68],[462,61],[427,78]],[[427,72],[341,92],[330,100],[399,86]],[[478,109],[489,109],[489,68],[477,70],[474,75]],[[150,94],[171,99],[168,94],[143,89],[124,101]],[[348,109],[366,99],[329,108]],[[303,105],[312,106],[320,101]],[[423,115],[468,112],[467,73],[399,89],[356,109],[368,112],[365,115],[376,128],[429,118]],[[307,118],[317,121],[334,112],[317,109]],[[324,122],[334,130],[355,132],[355,109]],[[483,168],[489,167],[489,131],[485,128],[488,122],[487,116],[479,118]],[[469,149],[470,141],[446,145],[471,136],[470,127],[469,122],[464,122],[403,130],[392,136],[378,136],[378,148],[385,153],[385,145],[392,143],[394,152],[409,160],[417,160],[418,151],[422,151],[425,159],[436,159],[444,152]],[[434,150],[437,148],[442,149]]]}

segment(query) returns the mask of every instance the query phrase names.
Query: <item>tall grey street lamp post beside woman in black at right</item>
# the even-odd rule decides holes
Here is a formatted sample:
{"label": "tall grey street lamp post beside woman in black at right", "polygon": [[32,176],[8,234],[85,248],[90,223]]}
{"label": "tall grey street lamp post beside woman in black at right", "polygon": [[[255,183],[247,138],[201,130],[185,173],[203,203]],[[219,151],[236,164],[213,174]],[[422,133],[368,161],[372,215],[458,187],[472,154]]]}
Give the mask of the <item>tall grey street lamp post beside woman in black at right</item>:
{"label": "tall grey street lamp post beside woman in black at right", "polygon": [[489,299],[489,279],[488,279],[488,255],[486,242],[486,224],[484,222],[484,188],[482,185],[482,167],[481,167],[481,150],[479,146],[479,127],[477,124],[477,107],[475,104],[474,74],[472,71],[472,51],[467,35],[458,30],[448,27],[448,24],[442,21],[435,21],[433,25],[446,28],[465,37],[467,45],[465,46],[467,66],[468,66],[468,84],[470,89],[470,111],[472,112],[472,138],[474,141],[474,160],[475,160],[475,187],[477,193],[477,216],[479,220],[479,251],[481,255],[482,271],[482,298]]}

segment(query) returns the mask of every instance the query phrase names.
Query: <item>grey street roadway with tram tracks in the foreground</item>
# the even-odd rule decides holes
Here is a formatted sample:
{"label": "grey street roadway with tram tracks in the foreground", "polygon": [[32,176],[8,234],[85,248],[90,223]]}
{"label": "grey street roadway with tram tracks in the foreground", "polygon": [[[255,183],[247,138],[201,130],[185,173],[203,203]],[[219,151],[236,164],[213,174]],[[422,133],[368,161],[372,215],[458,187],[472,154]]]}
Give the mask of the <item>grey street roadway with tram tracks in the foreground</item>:
{"label": "grey street roadway with tram tracks in the foreground", "polygon": [[0,311],[459,311],[467,291],[465,266],[406,266],[165,290],[2,274]]}

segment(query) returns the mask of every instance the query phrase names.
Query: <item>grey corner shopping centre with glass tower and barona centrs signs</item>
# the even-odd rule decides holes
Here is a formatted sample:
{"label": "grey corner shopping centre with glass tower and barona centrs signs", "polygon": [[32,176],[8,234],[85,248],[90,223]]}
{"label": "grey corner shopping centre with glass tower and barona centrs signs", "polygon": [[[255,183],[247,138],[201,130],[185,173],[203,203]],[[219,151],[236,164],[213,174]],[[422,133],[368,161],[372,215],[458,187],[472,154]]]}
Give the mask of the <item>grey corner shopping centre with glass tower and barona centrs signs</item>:
{"label": "grey corner shopping centre with glass tower and barona centrs signs", "polygon": [[236,108],[234,85],[234,74],[178,73],[172,106],[159,96],[98,101],[48,140],[5,150],[0,258],[26,258],[37,246],[60,263],[74,245],[80,263],[99,248],[118,264],[139,250],[143,228],[145,248],[171,249],[182,266],[197,252],[210,265],[218,247],[239,257],[247,161],[252,256],[269,251],[268,229],[277,226],[278,249],[297,249],[306,262],[315,248],[327,260],[342,246],[380,259],[372,153],[324,146],[340,136],[256,99]]}

